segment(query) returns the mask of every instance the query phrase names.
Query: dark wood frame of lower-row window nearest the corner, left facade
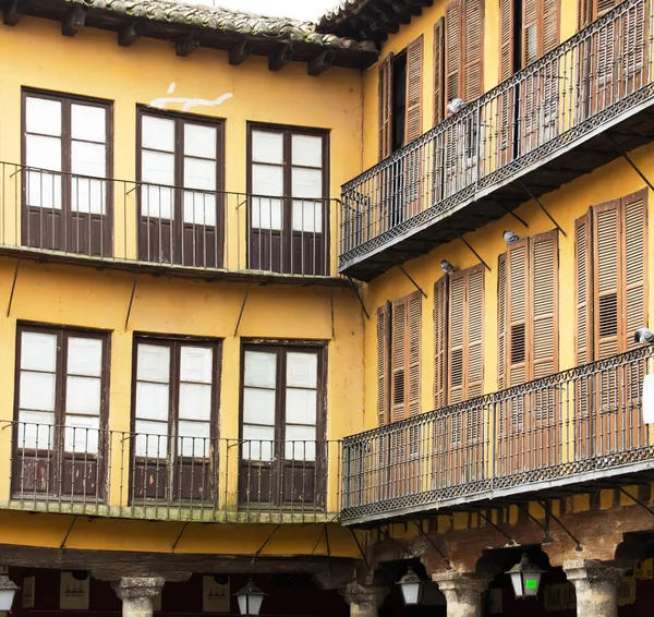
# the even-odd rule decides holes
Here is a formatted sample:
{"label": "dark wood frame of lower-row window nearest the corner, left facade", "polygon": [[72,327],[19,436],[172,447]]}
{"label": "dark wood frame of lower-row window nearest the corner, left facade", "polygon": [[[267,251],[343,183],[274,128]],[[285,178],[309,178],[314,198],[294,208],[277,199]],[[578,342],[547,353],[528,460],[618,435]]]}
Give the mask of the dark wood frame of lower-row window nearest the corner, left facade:
{"label": "dark wood frame of lower-row window nearest the corner, left facade", "polygon": [[[239,500],[241,503],[247,503],[249,505],[256,504],[261,507],[270,505],[270,500],[266,497],[270,494],[271,500],[276,506],[288,506],[298,507],[298,501],[304,507],[312,509],[322,509],[326,504],[326,492],[327,482],[326,474],[328,469],[328,451],[327,451],[327,371],[328,371],[328,342],[319,340],[295,340],[295,339],[242,339],[241,342],[241,368],[239,378],[239,439],[243,439],[243,424],[244,424],[244,388],[245,388],[245,353],[246,351],[259,351],[277,354],[277,368],[276,368],[276,392],[275,392],[275,443],[280,448],[280,451],[272,452],[272,461],[259,461],[255,459],[244,459],[242,452],[239,452],[240,465],[239,465]],[[315,461],[299,460],[286,460],[282,448],[284,448],[286,441],[286,418],[283,412],[286,411],[286,377],[287,377],[287,360],[286,356],[289,352],[313,352],[317,354],[317,402],[316,402],[316,452]],[[320,443],[323,447],[320,447]],[[313,468],[312,468],[313,464]],[[272,469],[272,468],[281,469]],[[269,471],[267,471],[269,468]],[[284,469],[286,468],[286,469]],[[298,487],[287,486],[284,488],[284,481],[287,474],[293,472],[296,473],[313,473],[313,476],[303,479],[302,486],[300,487],[302,495],[298,495]],[[261,487],[265,485],[265,474],[270,473],[270,477],[277,473],[278,476],[275,482],[280,483],[280,486],[269,492],[262,491]],[[314,485],[312,486],[311,480],[313,479]],[[274,480],[268,481],[272,486]],[[291,481],[292,482],[292,481]],[[259,487],[259,491],[254,491],[252,496],[252,488]],[[261,495],[258,494],[261,493]],[[296,499],[287,499],[288,495],[296,497]],[[279,496],[282,495],[282,498]]]}

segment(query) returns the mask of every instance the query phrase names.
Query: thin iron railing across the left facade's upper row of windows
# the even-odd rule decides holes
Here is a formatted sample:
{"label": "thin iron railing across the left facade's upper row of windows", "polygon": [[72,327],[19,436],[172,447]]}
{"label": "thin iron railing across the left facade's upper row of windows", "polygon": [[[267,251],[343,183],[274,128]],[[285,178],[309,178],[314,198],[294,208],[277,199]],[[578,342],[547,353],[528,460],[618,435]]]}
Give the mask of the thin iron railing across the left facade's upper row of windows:
{"label": "thin iron railing across the left facade's upper row of windows", "polygon": [[0,246],[202,270],[331,276],[334,199],[201,191],[0,162]]}

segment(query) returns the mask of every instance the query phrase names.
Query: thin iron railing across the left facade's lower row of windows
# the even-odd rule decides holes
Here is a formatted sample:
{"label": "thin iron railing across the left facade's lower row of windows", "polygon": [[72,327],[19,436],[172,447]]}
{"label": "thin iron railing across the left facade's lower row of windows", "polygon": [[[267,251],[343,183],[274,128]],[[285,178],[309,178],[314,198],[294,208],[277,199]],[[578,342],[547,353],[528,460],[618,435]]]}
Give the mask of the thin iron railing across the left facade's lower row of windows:
{"label": "thin iron railing across the left facade's lower row of windows", "polygon": [[3,451],[11,456],[11,474],[0,507],[207,522],[328,522],[337,517],[340,441],[83,427],[89,424],[78,419],[60,425],[7,423],[11,445]]}

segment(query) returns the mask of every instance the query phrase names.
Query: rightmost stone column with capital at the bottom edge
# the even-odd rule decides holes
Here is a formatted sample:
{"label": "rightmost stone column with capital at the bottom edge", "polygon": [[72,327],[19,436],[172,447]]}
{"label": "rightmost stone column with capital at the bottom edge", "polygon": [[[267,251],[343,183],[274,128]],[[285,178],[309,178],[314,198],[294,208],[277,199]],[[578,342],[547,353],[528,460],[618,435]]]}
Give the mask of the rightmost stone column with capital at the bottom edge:
{"label": "rightmost stone column with capital at the bottom edge", "polygon": [[579,617],[617,617],[618,584],[622,572],[613,564],[594,559],[564,561],[568,580],[577,593]]}

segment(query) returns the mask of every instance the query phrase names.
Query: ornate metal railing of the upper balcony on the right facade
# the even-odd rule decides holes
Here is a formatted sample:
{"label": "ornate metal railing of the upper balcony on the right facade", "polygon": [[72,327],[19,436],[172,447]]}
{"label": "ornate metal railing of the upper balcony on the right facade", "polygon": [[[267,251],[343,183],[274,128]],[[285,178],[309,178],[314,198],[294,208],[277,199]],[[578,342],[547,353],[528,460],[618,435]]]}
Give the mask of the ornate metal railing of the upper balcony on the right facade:
{"label": "ornate metal railing of the upper balcony on the right facade", "polygon": [[342,185],[340,267],[654,97],[650,0],[589,27]]}

